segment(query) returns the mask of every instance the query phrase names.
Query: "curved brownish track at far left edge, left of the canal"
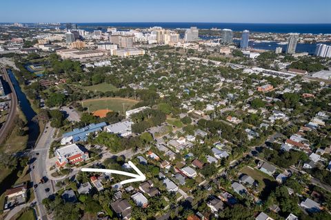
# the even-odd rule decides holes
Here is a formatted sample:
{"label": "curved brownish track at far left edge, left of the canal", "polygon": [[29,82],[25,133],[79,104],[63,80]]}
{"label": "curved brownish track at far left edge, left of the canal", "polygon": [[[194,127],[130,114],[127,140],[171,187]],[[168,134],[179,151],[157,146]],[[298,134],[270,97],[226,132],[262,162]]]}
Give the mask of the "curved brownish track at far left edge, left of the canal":
{"label": "curved brownish track at far left edge, left of the canal", "polygon": [[5,123],[3,123],[3,126],[0,129],[0,143],[2,143],[6,139],[8,132],[10,131],[10,128],[12,128],[12,124],[14,123],[15,115],[17,112],[17,103],[18,103],[17,94],[14,90],[14,86],[12,86],[12,81],[10,81],[10,77],[8,75],[6,68],[2,68],[1,72],[3,73],[3,79],[5,79],[8,82],[11,92],[9,94],[10,109],[8,112],[8,116],[6,118]]}

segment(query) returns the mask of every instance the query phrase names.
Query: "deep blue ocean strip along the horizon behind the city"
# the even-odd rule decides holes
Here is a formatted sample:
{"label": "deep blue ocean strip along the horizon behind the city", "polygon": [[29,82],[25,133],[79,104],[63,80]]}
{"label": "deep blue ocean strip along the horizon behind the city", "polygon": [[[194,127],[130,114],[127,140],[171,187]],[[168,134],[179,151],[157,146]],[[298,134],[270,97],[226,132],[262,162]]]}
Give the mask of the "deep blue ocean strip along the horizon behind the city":
{"label": "deep blue ocean strip along the horizon behind the city", "polygon": [[107,27],[121,28],[149,28],[161,26],[163,28],[190,28],[197,26],[201,29],[228,28],[234,31],[250,30],[250,32],[274,32],[301,34],[331,34],[331,23],[193,23],[193,22],[123,22],[123,23],[77,23],[86,30],[106,30]]}

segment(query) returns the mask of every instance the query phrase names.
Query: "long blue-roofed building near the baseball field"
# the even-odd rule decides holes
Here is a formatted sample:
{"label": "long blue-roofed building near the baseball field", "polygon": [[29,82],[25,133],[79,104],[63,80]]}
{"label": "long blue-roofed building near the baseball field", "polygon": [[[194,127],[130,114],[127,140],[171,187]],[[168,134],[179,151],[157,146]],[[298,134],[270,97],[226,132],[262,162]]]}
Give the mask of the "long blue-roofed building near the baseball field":
{"label": "long blue-roofed building near the baseball field", "polygon": [[72,132],[64,133],[61,139],[61,144],[65,145],[67,143],[74,143],[78,141],[86,141],[88,139],[88,134],[92,132],[99,132],[107,126],[106,122],[101,123],[91,123],[84,128],[75,128]]}

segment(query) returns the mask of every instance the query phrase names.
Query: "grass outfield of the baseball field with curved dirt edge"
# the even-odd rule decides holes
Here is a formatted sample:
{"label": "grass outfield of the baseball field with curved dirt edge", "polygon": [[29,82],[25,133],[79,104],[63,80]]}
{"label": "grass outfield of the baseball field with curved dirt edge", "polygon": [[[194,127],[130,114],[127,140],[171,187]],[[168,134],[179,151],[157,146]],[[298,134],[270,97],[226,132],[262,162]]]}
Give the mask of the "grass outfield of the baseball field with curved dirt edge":
{"label": "grass outfield of the baseball field with curved dirt edge", "polygon": [[96,110],[108,109],[114,112],[121,112],[123,114],[124,110],[130,110],[132,106],[137,104],[139,101],[132,99],[122,99],[122,98],[103,98],[103,99],[88,99],[82,101],[83,107],[88,107],[90,112]]}

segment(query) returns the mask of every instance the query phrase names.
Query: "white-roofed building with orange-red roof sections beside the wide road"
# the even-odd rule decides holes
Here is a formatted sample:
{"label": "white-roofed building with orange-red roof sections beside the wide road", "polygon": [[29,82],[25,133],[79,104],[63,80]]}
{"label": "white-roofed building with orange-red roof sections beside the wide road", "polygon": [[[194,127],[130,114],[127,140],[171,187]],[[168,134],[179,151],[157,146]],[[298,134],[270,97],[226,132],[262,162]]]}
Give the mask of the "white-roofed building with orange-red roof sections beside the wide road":
{"label": "white-roofed building with orange-red roof sections beside the wide road", "polygon": [[88,159],[88,152],[77,146],[76,143],[55,150],[57,155],[57,167],[63,167],[67,163],[77,164]]}

